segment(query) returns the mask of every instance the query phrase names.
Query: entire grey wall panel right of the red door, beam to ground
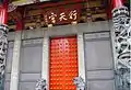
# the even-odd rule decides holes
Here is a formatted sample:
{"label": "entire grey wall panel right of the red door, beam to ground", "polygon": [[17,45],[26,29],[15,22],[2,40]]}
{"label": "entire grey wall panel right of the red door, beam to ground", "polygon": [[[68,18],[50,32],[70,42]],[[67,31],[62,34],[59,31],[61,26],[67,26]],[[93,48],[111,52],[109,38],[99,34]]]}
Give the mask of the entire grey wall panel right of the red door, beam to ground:
{"label": "entire grey wall panel right of the red door, beam to ground", "polygon": [[84,38],[88,90],[115,90],[109,33],[85,34]]}

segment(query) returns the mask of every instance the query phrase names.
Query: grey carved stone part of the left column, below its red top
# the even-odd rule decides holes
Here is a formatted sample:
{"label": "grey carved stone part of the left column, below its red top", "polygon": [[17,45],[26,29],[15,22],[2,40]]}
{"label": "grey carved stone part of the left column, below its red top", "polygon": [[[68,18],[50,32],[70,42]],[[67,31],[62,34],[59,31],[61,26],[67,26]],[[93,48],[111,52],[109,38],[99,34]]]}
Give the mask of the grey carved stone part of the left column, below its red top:
{"label": "grey carved stone part of the left column, below its red top", "polygon": [[9,27],[7,25],[0,24],[0,90],[4,89],[3,86],[8,49],[8,31]]}

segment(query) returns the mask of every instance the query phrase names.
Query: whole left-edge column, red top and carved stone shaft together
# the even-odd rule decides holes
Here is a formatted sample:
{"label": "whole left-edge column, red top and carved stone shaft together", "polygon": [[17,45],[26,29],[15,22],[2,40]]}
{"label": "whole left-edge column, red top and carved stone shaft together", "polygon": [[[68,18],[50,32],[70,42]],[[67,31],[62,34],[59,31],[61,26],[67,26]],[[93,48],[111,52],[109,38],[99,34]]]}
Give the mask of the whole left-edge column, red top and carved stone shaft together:
{"label": "whole left-edge column, red top and carved stone shaft together", "polygon": [[7,13],[8,0],[0,1],[0,90],[4,90],[4,72],[8,49]]}

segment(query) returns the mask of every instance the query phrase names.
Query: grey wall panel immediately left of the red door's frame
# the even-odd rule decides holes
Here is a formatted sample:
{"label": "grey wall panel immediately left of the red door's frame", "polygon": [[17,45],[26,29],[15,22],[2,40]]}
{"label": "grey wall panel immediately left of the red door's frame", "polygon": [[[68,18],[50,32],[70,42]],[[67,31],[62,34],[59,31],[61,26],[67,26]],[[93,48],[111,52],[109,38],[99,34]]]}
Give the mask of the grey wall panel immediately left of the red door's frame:
{"label": "grey wall panel immediately left of the red door's frame", "polygon": [[35,90],[41,74],[43,38],[24,40],[21,47],[17,90]]}

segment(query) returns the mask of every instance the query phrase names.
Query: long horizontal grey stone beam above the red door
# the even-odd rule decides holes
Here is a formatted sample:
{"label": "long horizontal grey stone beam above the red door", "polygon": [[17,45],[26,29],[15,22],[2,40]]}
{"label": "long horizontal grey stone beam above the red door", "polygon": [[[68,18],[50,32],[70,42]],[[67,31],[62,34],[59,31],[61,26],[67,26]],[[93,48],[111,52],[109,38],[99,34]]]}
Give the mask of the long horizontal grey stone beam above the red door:
{"label": "long horizontal grey stone beam above the red door", "polygon": [[[80,23],[78,25],[60,25],[52,27],[44,27],[39,30],[27,30],[22,32],[22,40],[26,38],[36,38],[44,37],[44,35],[48,36],[57,36],[57,35],[72,35],[81,33],[90,33],[90,32],[100,32],[100,31],[109,31],[110,22],[91,22],[91,23]],[[9,41],[14,40],[14,33],[9,33]]]}

